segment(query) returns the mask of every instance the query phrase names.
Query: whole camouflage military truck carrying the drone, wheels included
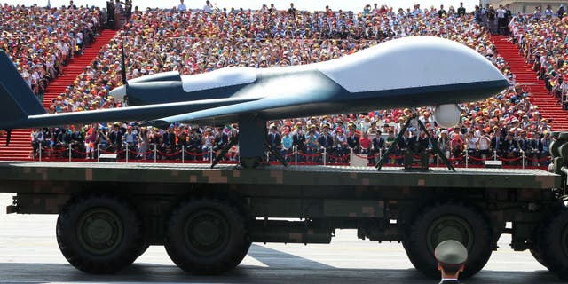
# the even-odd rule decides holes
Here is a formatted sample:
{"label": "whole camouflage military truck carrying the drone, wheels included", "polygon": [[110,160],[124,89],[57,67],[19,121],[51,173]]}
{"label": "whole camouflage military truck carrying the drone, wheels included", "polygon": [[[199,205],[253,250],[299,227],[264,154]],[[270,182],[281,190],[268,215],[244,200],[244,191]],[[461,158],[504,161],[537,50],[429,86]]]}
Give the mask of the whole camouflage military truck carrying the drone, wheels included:
{"label": "whole camouflage military truck carrying the drone, wheels included", "polygon": [[9,213],[58,214],[62,254],[89,273],[118,272],[163,245],[186,272],[217,274],[252,242],[329,243],[350,228],[362,240],[402,242],[432,277],[438,242],[468,248],[467,277],[508,233],[514,250],[568,279],[568,133],[556,133],[550,151],[548,171],[1,162],[0,192],[17,193]]}

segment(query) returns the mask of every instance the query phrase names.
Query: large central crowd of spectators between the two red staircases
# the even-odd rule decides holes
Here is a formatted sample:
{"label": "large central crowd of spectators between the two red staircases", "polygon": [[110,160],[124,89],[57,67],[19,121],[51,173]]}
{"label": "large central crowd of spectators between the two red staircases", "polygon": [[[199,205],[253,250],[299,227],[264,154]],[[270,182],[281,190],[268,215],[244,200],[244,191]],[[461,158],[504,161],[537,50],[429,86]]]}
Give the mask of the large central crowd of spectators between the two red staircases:
{"label": "large central crowd of spectators between the two red staircases", "polygon": [[[398,11],[386,5],[367,5],[362,12],[343,12],[333,7],[326,7],[323,12],[304,12],[293,5],[279,9],[264,5],[257,11],[226,10],[210,3],[199,10],[186,9],[183,3],[169,10],[141,12],[135,7],[120,34],[106,44],[67,91],[52,101],[50,111],[123,106],[123,102],[108,95],[122,82],[122,39],[128,57],[127,78],[131,79],[171,70],[191,75],[232,66],[309,64],[339,58],[397,37],[441,36],[483,54],[514,84],[515,77],[489,40],[485,26],[477,20],[477,12],[466,12],[462,7],[457,11],[449,7],[446,11],[443,6],[422,9],[418,4]],[[418,108],[417,112],[438,146],[455,162],[462,161],[465,150],[477,159],[497,153],[515,160],[525,153],[534,157],[534,164],[544,162],[548,154],[548,121],[540,117],[538,108],[531,104],[530,94],[519,86],[491,99],[462,105],[461,122],[454,129],[438,128],[430,108]],[[408,115],[409,110],[394,109],[273,121],[267,125],[267,141],[288,159],[292,149],[297,149],[304,161],[320,159],[314,156],[325,151],[329,161],[344,162],[352,151],[368,155],[369,161],[374,162],[375,154],[392,143]],[[75,145],[82,149],[78,152],[87,153],[87,149],[98,144],[105,151],[123,150],[129,129],[135,138],[130,136],[126,144],[131,144],[129,149],[136,149],[139,157],[149,158],[151,145],[156,145],[160,159],[178,158],[182,146],[189,149],[191,156],[199,157],[194,159],[208,159],[209,150],[219,151],[226,146],[236,136],[238,126],[173,124],[168,130],[157,130],[123,122],[79,125],[74,130],[59,131],[83,133],[83,137],[75,136]],[[409,130],[405,137],[395,155],[408,143],[424,140],[424,134],[416,129]],[[57,138],[51,140],[51,145],[67,143]],[[238,152],[238,146],[229,152]]]}

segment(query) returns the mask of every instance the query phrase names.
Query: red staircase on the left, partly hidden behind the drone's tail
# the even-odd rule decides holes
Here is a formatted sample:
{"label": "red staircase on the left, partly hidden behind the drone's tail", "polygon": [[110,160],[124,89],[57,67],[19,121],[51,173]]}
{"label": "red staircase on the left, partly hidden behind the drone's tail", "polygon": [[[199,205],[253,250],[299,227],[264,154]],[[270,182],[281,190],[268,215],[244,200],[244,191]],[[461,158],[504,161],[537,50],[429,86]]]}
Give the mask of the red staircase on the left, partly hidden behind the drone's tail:
{"label": "red staircase on the left, partly hidden behind the drone's tail", "polygon": [[[51,81],[47,91],[43,95],[43,106],[51,106],[51,99],[56,98],[60,93],[64,92],[67,86],[73,84],[77,75],[83,73],[83,68],[91,64],[95,59],[99,50],[108,41],[113,38],[116,31],[103,30],[94,43],[90,47],[83,50],[83,55],[71,59],[66,67],[63,67],[62,74],[55,80]],[[12,130],[12,139],[10,146],[4,146],[5,137],[0,142],[0,160],[2,161],[22,161],[31,160],[29,154],[32,151],[31,146],[31,130]]]}

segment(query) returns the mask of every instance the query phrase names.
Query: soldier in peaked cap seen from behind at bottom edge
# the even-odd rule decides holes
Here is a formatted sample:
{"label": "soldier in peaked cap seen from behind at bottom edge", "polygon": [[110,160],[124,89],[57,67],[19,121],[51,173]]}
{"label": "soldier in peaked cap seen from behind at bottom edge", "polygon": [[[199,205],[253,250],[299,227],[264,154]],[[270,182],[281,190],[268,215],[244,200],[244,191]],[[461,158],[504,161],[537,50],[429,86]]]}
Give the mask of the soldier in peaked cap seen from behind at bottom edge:
{"label": "soldier in peaked cap seen from behind at bottom edge", "polygon": [[440,284],[459,284],[458,277],[468,260],[468,249],[459,241],[442,241],[434,249],[434,256],[438,261],[438,270],[442,273]]}

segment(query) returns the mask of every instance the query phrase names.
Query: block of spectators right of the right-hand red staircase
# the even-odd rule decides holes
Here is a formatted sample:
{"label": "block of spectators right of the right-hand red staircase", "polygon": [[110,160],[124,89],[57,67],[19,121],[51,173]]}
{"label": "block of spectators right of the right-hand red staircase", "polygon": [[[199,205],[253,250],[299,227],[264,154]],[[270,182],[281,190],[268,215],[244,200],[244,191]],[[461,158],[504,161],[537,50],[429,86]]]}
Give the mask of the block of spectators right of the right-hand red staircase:
{"label": "block of spectators right of the right-hand red staircase", "polygon": [[544,14],[518,15],[511,21],[513,40],[523,52],[526,61],[533,63],[551,96],[568,109],[568,16],[561,5],[552,12],[548,6]]}

